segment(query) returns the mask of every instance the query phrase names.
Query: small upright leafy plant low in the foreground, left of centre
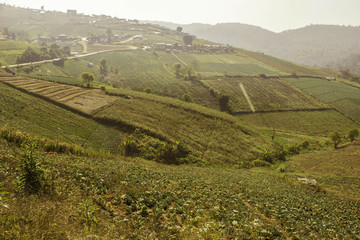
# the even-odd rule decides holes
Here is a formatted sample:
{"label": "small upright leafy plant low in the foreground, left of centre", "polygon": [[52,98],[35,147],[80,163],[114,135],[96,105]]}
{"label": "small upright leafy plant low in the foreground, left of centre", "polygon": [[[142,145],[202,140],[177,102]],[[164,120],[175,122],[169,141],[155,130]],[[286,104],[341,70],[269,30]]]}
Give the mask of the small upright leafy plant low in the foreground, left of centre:
{"label": "small upright leafy plant low in the foreground, left of centre", "polygon": [[85,201],[78,208],[79,224],[87,231],[91,231],[94,226],[97,226],[98,220],[95,216],[97,207],[90,201]]}

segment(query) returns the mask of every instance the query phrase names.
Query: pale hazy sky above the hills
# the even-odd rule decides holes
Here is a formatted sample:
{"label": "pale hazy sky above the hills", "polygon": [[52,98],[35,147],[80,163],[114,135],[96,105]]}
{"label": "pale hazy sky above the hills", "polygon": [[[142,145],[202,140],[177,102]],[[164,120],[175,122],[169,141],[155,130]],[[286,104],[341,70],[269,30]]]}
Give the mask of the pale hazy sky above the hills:
{"label": "pale hazy sky above the hills", "polygon": [[309,24],[360,25],[360,0],[0,0],[46,10],[175,23],[240,22],[280,32]]}

